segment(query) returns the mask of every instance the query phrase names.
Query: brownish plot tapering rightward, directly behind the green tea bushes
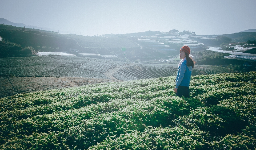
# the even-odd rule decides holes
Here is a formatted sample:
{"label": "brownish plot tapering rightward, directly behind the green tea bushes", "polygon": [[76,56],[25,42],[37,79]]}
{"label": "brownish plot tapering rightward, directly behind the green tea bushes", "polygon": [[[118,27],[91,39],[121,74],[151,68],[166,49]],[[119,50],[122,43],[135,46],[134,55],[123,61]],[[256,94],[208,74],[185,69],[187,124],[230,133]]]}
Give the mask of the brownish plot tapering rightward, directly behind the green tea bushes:
{"label": "brownish plot tapering rightward, directly behind the green tea bushes", "polygon": [[[9,81],[10,80],[10,81]],[[84,77],[0,77],[0,97],[18,93],[61,89],[89,84],[113,82],[111,79]]]}

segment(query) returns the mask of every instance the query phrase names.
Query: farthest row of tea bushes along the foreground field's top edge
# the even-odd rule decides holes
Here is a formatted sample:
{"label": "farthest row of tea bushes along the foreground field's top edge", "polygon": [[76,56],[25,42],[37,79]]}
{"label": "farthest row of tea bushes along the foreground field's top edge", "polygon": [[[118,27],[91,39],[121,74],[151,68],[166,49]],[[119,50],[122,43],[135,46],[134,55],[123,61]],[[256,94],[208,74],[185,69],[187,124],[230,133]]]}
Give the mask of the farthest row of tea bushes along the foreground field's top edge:
{"label": "farthest row of tea bushes along the foreground field's top edge", "polygon": [[[210,91],[215,91],[222,88],[240,88],[240,87],[251,87],[254,86],[255,82],[246,82],[246,80],[255,81],[254,74],[247,73],[245,75],[239,74],[221,74],[221,75],[208,75],[208,76],[196,76],[192,77],[191,80],[191,95],[198,96]],[[246,75],[250,75],[251,78],[245,78]],[[217,78],[216,78],[217,77]],[[48,103],[60,102],[60,99],[64,98],[63,101],[68,99],[104,99],[104,97],[109,97],[111,95],[112,99],[115,97],[117,99],[124,98],[139,98],[143,95],[151,94],[152,92],[161,93],[166,91],[167,93],[173,90],[175,78],[174,77],[163,77],[158,79],[150,80],[135,80],[130,82],[112,82],[105,84],[89,85],[85,87],[63,89],[63,90],[52,90],[49,92],[42,91],[32,94],[21,94],[17,97],[12,97],[12,100],[5,98],[2,99],[1,105],[5,109],[19,109],[27,108],[28,106],[44,106]],[[230,82],[231,81],[231,82]],[[245,92],[254,91],[254,89],[246,90]],[[243,91],[242,91],[243,92]],[[153,93],[152,95],[157,93]],[[86,96],[87,95],[87,96]],[[100,97],[99,97],[100,96]],[[25,98],[23,98],[25,97]],[[55,99],[57,97],[59,100]],[[152,98],[152,97],[151,97]],[[54,101],[52,101],[54,100]],[[15,105],[13,104],[15,102]],[[30,103],[27,103],[30,102]],[[31,103],[32,102],[32,103]],[[47,102],[47,103],[46,103]],[[15,107],[14,107],[15,106]],[[21,107],[17,107],[21,106]]]}

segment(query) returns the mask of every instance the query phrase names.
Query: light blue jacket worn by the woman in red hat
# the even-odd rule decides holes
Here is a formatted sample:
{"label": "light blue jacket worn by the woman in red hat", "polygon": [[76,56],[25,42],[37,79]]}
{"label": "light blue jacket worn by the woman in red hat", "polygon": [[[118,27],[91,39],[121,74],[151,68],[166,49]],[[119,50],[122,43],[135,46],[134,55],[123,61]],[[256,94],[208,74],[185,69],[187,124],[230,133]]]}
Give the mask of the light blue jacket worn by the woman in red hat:
{"label": "light blue jacket worn by the woman in red hat", "polygon": [[179,65],[177,77],[176,77],[176,86],[189,86],[190,78],[191,78],[192,66],[187,66],[187,60],[181,62]]}

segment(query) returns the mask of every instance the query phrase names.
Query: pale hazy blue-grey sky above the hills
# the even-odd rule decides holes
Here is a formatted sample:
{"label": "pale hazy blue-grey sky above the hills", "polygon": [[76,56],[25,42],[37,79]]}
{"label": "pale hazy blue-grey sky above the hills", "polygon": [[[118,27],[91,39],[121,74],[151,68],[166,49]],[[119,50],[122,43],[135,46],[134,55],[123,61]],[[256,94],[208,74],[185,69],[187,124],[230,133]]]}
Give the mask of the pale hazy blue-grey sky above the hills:
{"label": "pale hazy blue-grey sky above the hills", "polygon": [[82,35],[256,29],[256,0],[0,0],[0,18]]}

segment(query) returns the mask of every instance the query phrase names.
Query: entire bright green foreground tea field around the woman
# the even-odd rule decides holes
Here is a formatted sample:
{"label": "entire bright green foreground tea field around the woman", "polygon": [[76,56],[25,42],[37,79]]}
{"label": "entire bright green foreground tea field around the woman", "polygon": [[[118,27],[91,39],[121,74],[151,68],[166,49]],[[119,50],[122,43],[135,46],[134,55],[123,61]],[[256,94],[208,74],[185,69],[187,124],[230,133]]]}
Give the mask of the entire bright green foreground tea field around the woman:
{"label": "entire bright green foreground tea field around the woman", "polygon": [[256,72],[106,82],[0,99],[0,149],[255,149]]}

